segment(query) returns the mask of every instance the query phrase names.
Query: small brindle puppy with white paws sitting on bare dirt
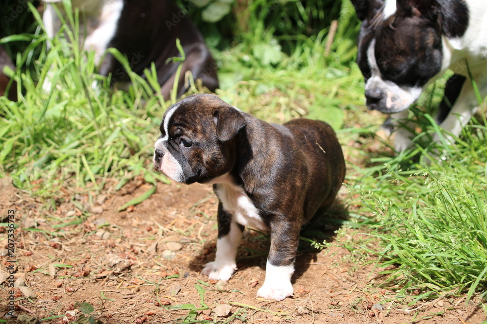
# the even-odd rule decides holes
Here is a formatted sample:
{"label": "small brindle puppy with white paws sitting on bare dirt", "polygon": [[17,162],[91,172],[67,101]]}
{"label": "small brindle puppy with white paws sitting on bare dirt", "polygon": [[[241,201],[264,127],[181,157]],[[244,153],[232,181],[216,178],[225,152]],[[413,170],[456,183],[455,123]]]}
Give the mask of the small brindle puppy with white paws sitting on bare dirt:
{"label": "small brindle puppy with white paws sitting on bare dirt", "polygon": [[219,199],[216,258],[203,273],[228,280],[244,226],[269,230],[257,296],[291,296],[301,226],[333,204],[345,177],[332,128],[310,119],[269,124],[216,96],[193,95],[168,108],[160,131],[155,170],[186,184],[213,184]]}

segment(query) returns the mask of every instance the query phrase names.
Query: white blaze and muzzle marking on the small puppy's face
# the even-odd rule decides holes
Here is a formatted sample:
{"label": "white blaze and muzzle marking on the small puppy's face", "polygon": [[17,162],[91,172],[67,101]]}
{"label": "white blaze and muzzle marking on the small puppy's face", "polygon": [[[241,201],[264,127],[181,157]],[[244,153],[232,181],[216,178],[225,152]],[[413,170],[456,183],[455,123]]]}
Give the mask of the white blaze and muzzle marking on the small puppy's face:
{"label": "white blaze and muzzle marking on the small puppy's face", "polygon": [[[185,180],[183,168],[167,148],[167,142],[169,140],[169,121],[172,117],[172,114],[174,114],[174,111],[176,111],[178,107],[179,105],[169,107],[169,110],[164,115],[162,125],[165,134],[163,137],[160,137],[154,144],[155,151],[152,161],[154,163],[154,168],[157,171],[163,172],[174,181],[183,182]],[[159,151],[159,155],[157,151]],[[161,152],[162,156],[160,156]]]}

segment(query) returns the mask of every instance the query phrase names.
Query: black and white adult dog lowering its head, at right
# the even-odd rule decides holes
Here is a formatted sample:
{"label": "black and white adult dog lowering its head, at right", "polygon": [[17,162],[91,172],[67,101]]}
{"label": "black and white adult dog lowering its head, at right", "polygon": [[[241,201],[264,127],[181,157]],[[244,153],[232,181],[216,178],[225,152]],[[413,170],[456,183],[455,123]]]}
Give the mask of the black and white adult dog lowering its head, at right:
{"label": "black and white adult dog lowering its head, at right", "polygon": [[[408,107],[447,69],[447,83],[436,117],[451,142],[478,107],[468,66],[482,96],[487,92],[487,1],[352,0],[362,20],[357,63],[365,77],[367,107],[393,118],[407,118]],[[395,149],[410,144],[397,130]],[[435,136],[435,140],[439,140]]]}

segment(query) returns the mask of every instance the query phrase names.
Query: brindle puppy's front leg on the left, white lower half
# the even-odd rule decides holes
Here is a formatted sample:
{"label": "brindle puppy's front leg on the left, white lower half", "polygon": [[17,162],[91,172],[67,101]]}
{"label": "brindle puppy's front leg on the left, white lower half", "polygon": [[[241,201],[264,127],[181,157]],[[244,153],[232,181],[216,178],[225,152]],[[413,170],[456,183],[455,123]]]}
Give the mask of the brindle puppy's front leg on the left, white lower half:
{"label": "brindle puppy's front leg on the left, white lower half", "polygon": [[216,242],[215,261],[205,264],[201,273],[210,279],[228,280],[237,270],[237,249],[242,239],[244,227],[235,222],[230,213],[218,205],[218,240]]}

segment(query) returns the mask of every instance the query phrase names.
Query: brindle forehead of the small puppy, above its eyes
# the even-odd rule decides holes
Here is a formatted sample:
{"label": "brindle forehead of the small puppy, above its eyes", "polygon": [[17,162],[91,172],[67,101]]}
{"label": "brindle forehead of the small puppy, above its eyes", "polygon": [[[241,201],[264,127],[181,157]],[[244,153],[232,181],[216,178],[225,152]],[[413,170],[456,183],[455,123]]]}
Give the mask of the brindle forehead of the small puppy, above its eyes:
{"label": "brindle forehead of the small puppy, above its eyes", "polygon": [[215,128],[213,111],[225,105],[228,103],[211,95],[193,95],[173,104],[161,121],[160,138],[168,140],[182,131],[187,136],[211,132]]}

